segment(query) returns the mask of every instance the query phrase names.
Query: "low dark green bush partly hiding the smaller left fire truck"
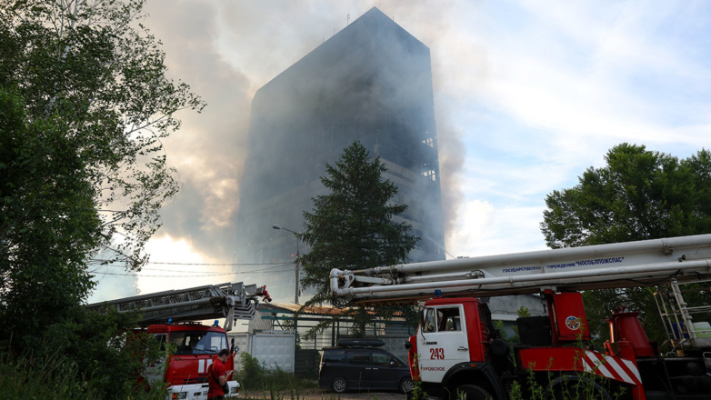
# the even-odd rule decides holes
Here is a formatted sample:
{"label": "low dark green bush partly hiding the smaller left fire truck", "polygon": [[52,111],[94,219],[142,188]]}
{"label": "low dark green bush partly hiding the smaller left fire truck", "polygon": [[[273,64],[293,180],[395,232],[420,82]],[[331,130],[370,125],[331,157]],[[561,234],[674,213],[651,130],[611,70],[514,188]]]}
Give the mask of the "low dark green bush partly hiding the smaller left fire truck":
{"label": "low dark green bush partly hiding the smaller left fire truck", "polygon": [[65,311],[62,322],[36,335],[32,346],[6,353],[15,355],[17,361],[10,365],[22,365],[15,373],[26,375],[27,382],[36,376],[59,376],[62,382],[89,385],[96,398],[145,395],[146,387],[137,379],[144,373],[145,361],[165,355],[155,341],[147,340],[147,334],[132,333],[134,327],[135,315],[118,313],[113,307],[97,313],[76,306]]}

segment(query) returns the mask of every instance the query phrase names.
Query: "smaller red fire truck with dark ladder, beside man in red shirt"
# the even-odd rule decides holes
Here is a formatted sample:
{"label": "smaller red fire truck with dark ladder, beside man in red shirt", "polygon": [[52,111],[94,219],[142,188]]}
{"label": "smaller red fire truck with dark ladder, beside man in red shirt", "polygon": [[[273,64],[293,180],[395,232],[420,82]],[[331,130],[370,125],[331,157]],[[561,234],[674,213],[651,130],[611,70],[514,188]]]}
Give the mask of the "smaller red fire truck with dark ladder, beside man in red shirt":
{"label": "smaller red fire truck with dark ladder, beside man in red shirt", "polygon": [[[146,365],[145,375],[139,379],[148,385],[165,382],[169,400],[204,400],[209,388],[208,371],[220,350],[230,349],[233,356],[227,359],[225,369],[235,369],[234,355],[238,349],[234,338],[228,347],[226,332],[236,320],[252,319],[260,298],[271,301],[266,286],[225,283],[136,295],[86,307],[96,311],[114,307],[119,313],[141,312],[134,333],[145,332],[164,348],[165,344],[173,344],[175,352],[167,359]],[[220,318],[225,318],[224,327],[219,326]],[[197,322],[210,319],[215,319],[212,326]],[[229,393],[225,397],[239,395],[239,383],[230,380],[227,386]]]}

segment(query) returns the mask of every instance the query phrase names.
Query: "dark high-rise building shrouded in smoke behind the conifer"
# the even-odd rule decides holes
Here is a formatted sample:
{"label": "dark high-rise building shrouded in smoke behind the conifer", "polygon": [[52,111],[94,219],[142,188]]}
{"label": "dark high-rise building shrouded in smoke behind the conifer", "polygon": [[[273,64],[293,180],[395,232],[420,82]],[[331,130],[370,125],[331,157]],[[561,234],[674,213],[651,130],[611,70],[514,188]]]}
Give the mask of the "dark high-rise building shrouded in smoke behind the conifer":
{"label": "dark high-rise building shrouded in smoke behind the conifer", "polygon": [[[327,193],[319,180],[325,164],[354,140],[380,156],[399,188],[395,201],[409,205],[402,217],[421,236],[409,260],[445,258],[429,49],[373,8],[256,92],[240,184],[239,263],[293,262],[294,235],[272,225],[302,229],[311,198]],[[293,272],[260,282],[265,277],[273,296],[293,298]]]}

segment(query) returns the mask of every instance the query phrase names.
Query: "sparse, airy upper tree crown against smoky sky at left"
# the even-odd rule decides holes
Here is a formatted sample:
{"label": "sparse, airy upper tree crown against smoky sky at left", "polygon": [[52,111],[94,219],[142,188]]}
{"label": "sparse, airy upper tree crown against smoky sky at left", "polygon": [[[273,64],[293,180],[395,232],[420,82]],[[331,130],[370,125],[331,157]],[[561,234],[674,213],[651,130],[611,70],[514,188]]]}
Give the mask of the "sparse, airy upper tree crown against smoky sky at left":
{"label": "sparse, airy upper tree crown against smoky sky at left", "polygon": [[[144,3],[0,5],[0,86],[22,99],[27,124],[52,115],[61,123],[101,221],[91,235],[99,245],[122,235],[113,261],[134,268],[145,262],[143,245],[159,226],[157,210],[178,189],[161,139],[180,126],[178,110],[204,106],[187,85],[165,77],[160,43],[140,24]],[[20,189],[2,194],[19,195]],[[3,234],[18,224],[8,221]]]}

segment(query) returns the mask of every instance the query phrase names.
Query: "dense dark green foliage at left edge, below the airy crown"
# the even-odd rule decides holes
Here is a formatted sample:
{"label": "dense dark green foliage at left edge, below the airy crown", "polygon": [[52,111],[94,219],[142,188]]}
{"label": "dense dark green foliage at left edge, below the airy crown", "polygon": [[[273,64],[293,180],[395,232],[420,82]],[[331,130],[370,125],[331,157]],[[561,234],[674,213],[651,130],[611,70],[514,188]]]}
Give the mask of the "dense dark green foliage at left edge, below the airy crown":
{"label": "dense dark green foliage at left edge, below the airy crown", "polygon": [[0,338],[25,347],[85,298],[101,221],[59,115],[28,122],[23,98],[0,87],[0,121]]}

